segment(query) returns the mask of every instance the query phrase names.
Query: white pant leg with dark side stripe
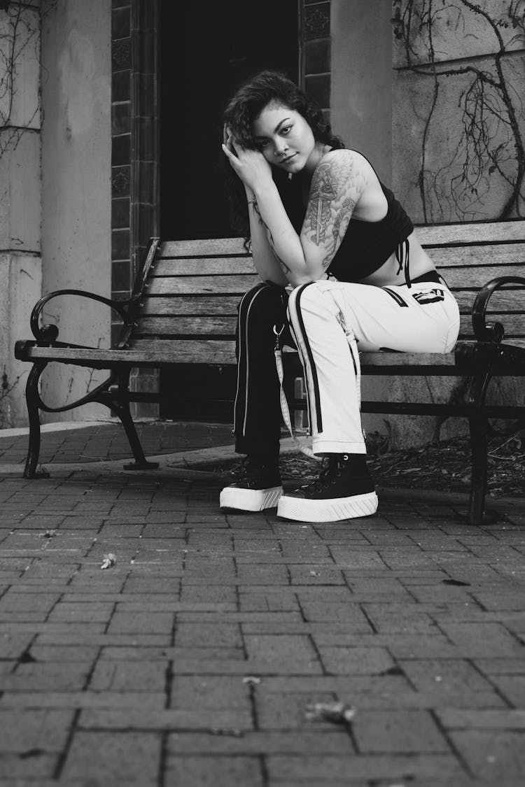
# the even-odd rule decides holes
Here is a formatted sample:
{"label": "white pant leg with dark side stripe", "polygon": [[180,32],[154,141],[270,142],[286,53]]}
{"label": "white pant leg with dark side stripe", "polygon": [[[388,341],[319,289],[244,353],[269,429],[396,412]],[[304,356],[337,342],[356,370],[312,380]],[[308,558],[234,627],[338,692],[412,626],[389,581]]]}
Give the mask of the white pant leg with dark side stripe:
{"label": "white pant leg with dark side stripe", "polygon": [[456,301],[433,282],[383,288],[328,279],[297,287],[288,313],[305,369],[316,454],[366,453],[357,369],[340,312],[364,351],[446,353],[459,330]]}

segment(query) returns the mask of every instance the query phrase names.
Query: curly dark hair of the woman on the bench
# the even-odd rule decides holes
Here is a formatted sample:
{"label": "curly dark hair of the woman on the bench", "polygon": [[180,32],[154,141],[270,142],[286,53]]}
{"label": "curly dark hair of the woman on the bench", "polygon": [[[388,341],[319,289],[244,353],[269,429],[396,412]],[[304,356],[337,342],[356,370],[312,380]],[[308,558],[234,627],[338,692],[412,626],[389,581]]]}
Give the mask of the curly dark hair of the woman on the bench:
{"label": "curly dark hair of the woman on the bench", "polygon": [[[264,107],[272,102],[294,109],[302,115],[312,129],[316,142],[332,148],[344,147],[342,140],[332,133],[331,125],[316,102],[278,71],[261,71],[252,76],[238,87],[224,110],[224,124],[231,128],[235,139],[238,139],[243,147],[257,150],[257,142],[253,139],[253,121],[257,120]],[[290,188],[287,173],[272,168],[272,175],[279,194],[284,197]],[[247,239],[250,237],[250,220],[244,187],[230,166],[225,169],[225,176],[231,227]]]}

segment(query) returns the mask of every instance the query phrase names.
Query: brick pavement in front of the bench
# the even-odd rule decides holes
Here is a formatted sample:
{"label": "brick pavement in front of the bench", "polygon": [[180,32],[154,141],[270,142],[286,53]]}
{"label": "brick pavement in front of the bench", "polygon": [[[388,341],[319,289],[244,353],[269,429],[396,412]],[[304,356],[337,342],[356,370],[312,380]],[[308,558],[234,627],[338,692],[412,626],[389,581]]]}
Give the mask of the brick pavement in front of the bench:
{"label": "brick pavement in front of the bench", "polygon": [[0,475],[0,787],[523,783],[525,501],[313,526],[169,459],[58,467]]}

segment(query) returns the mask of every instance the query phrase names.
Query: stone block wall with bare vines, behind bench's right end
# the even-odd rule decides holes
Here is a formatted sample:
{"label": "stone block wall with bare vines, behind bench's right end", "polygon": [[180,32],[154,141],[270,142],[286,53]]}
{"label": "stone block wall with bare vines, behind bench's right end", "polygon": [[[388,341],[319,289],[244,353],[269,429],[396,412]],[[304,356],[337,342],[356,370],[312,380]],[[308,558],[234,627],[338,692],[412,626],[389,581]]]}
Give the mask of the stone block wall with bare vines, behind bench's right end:
{"label": "stone block wall with bare vines, behind bench's right end", "polygon": [[[523,217],[525,3],[395,0],[393,7],[398,198],[420,224]],[[396,400],[447,401],[453,382],[388,379],[388,386]],[[488,399],[519,396],[515,381],[496,381]],[[468,434],[464,419],[439,427],[431,417],[368,419],[390,431],[394,447]]]}

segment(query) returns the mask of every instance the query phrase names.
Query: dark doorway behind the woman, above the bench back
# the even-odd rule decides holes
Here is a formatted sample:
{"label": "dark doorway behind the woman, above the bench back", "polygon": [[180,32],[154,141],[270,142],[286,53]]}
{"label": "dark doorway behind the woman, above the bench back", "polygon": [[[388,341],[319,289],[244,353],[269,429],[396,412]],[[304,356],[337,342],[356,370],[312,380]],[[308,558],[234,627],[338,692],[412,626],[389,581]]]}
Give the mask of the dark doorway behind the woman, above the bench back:
{"label": "dark doorway behind the woman, above the bench back", "polygon": [[220,117],[262,68],[298,79],[298,0],[161,0],[161,238],[224,238]]}

